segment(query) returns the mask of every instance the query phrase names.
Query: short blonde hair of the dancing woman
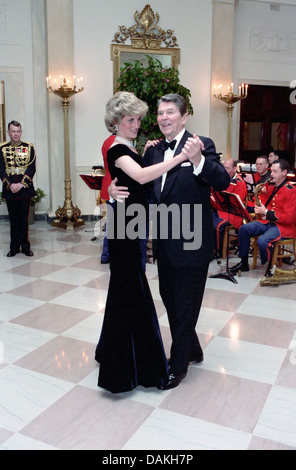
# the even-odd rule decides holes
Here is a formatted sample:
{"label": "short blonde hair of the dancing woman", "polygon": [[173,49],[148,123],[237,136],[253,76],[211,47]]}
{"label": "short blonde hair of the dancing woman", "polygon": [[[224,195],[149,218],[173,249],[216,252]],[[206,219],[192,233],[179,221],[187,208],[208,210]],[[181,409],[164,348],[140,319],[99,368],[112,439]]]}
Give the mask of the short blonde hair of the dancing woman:
{"label": "short blonde hair of the dancing woman", "polygon": [[105,124],[109,132],[116,132],[116,126],[124,116],[142,118],[148,112],[148,105],[128,91],[118,91],[106,104]]}

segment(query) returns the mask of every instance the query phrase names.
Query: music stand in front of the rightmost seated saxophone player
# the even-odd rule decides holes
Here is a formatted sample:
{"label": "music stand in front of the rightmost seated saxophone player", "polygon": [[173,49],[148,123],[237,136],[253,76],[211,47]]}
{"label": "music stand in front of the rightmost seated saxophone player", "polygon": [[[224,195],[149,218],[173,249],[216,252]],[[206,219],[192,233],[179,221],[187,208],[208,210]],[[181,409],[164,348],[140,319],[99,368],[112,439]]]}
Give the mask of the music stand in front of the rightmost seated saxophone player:
{"label": "music stand in front of the rightmost seated saxophone player", "polygon": [[[251,214],[246,210],[244,204],[242,203],[241,198],[238,194],[229,193],[228,191],[212,191],[212,195],[214,197],[214,201],[212,201],[212,205],[216,210],[220,210],[222,212],[227,212],[228,214],[235,215],[237,217],[241,217],[242,219],[247,219],[248,221],[252,220]],[[225,236],[225,234],[224,234]],[[210,278],[215,279],[226,279],[228,281],[237,284],[237,280],[235,279],[234,275],[228,269],[228,261],[229,261],[229,246],[227,243],[227,250],[226,250],[226,272],[225,273],[217,273],[212,274],[209,276]]]}

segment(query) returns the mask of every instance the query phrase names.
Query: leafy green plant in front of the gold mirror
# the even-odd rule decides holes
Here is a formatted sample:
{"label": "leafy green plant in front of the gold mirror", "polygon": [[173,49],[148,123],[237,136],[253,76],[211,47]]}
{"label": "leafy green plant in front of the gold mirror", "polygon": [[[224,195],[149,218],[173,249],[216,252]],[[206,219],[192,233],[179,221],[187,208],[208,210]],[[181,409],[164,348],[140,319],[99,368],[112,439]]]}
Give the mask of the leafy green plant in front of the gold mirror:
{"label": "leafy green plant in front of the gold mirror", "polygon": [[130,91],[149,106],[147,116],[142,120],[138,134],[137,148],[143,150],[149,139],[159,139],[162,134],[157,124],[157,101],[168,93],[178,93],[183,96],[188,105],[189,114],[193,114],[190,103],[191,92],[180,83],[177,69],[164,67],[160,60],[149,55],[145,56],[148,65],[136,60],[126,62],[120,69],[118,91]]}

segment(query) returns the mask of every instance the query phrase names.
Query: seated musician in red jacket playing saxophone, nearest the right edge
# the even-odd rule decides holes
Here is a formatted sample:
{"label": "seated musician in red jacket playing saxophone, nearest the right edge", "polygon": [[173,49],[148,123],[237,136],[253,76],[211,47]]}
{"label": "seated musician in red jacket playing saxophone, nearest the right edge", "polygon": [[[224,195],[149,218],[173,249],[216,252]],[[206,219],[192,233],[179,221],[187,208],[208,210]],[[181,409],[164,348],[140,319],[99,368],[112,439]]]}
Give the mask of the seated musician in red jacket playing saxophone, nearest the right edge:
{"label": "seated musician in red jacket playing saxophone, nearest the right edge", "polygon": [[270,275],[273,243],[282,238],[296,238],[296,187],[287,181],[289,164],[279,159],[271,166],[271,181],[262,187],[261,205],[255,206],[258,220],[242,225],[238,232],[241,261],[230,271],[249,271],[250,239],[257,243],[264,265],[269,261],[265,275]]}

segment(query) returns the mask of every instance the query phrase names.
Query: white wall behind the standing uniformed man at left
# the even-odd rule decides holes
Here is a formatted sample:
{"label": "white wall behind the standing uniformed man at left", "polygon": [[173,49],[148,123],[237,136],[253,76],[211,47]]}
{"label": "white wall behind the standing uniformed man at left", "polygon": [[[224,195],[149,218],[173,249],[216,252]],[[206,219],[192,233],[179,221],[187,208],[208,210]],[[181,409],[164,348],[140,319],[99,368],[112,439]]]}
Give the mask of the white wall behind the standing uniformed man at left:
{"label": "white wall behind the standing uniformed man at left", "polygon": [[[35,186],[49,194],[45,72],[41,72],[45,61],[43,1],[1,0],[0,6],[0,80],[5,82],[6,125],[13,119],[21,122],[23,140],[34,143],[37,152]],[[34,14],[38,19],[33,25]],[[48,201],[40,204],[43,212],[47,207]],[[0,206],[2,214],[7,214],[5,204]]]}

